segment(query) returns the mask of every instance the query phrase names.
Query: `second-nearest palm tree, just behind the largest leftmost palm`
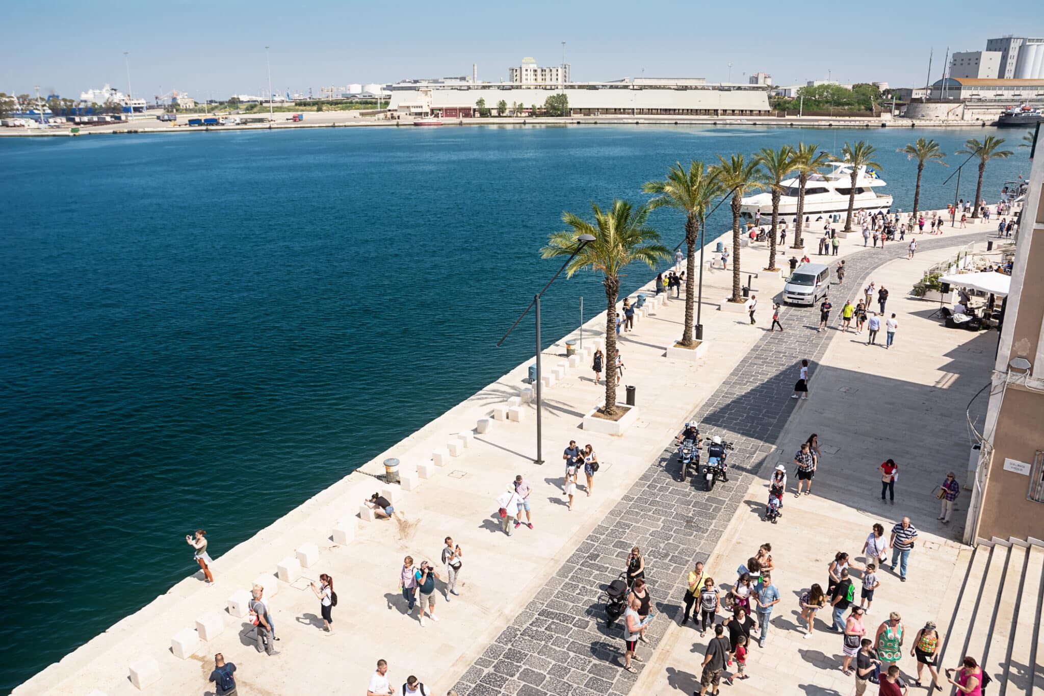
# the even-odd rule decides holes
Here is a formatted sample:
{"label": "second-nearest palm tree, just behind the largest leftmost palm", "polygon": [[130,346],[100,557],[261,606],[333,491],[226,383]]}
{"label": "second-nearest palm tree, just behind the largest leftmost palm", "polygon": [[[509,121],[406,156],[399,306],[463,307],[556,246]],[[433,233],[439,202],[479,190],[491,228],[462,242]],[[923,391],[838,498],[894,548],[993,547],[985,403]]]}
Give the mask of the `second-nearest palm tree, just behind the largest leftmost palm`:
{"label": "second-nearest palm tree, just behind the largest leftmost palm", "polygon": [[703,162],[695,160],[689,164],[689,170],[682,167],[681,162],[667,172],[667,178],[662,182],[646,182],[642,187],[645,193],[656,195],[649,201],[649,210],[658,208],[673,208],[685,213],[685,246],[687,249],[685,271],[685,329],[682,331],[681,345],[692,347],[692,310],[695,303],[696,285],[696,239],[699,236],[699,225],[707,215],[711,200],[721,195],[721,187],[707,171]]}

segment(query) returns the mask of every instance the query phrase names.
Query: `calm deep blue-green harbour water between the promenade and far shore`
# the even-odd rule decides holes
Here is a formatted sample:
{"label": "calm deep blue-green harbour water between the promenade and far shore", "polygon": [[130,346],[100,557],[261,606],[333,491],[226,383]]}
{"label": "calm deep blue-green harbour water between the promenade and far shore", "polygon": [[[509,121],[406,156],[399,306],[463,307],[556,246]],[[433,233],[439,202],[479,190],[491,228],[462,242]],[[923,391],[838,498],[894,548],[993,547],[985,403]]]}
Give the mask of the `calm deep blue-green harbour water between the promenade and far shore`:
{"label": "calm deep blue-green harbour water between the promenade and far shore", "polygon": [[[191,574],[190,530],[221,554],[531,355],[531,321],[493,344],[556,267],[537,249],[564,210],[644,199],[677,160],[799,139],[837,152],[869,140],[909,210],[915,168],[897,148],[927,136],[952,152],[990,133],[0,139],[0,596],[18,637],[0,690]],[[1014,146],[1021,133],[1000,135]],[[988,199],[1028,174],[1025,157],[990,165]],[[922,207],[952,200],[951,171],[929,165]],[[681,241],[675,215],[654,222]],[[625,290],[649,277],[633,269]],[[548,342],[576,326],[580,295],[589,315],[604,307],[593,275],[552,287]]]}

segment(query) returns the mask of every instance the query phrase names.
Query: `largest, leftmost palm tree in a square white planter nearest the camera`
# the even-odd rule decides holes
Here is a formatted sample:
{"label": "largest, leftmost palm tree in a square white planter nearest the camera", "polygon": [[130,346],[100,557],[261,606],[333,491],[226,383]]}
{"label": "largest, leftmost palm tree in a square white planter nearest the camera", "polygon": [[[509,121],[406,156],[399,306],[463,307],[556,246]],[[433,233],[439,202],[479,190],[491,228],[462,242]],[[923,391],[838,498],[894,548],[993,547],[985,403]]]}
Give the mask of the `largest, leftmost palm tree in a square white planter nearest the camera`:
{"label": "largest, leftmost palm tree in a square white planter nearest the camera", "polygon": [[[656,268],[657,262],[670,254],[660,243],[660,233],[647,226],[649,210],[645,206],[633,207],[626,200],[613,200],[613,207],[601,210],[591,203],[594,222],[582,220],[573,213],[563,213],[562,221],[569,230],[551,233],[547,245],[540,250],[544,259],[569,257],[576,250],[576,238],[591,235],[594,241],[585,245],[566,267],[566,274],[590,268],[602,274],[606,289],[606,371],[613,369],[616,360],[616,295],[620,291],[620,271],[635,262]],[[601,413],[615,416],[616,380],[612,374],[606,380],[606,405]]]}

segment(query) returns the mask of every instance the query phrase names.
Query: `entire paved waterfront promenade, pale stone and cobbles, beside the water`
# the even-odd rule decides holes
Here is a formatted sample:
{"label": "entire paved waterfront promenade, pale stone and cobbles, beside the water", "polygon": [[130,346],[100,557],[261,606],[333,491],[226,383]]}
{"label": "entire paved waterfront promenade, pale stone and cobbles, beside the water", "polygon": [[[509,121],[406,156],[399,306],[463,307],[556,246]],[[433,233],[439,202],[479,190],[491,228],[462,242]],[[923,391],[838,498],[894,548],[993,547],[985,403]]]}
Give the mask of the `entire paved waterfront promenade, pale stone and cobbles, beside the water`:
{"label": "entire paved waterfront promenade, pale stone and cobbles, beside the water", "polygon": [[[989,383],[996,333],[947,330],[928,319],[938,303],[907,292],[929,268],[954,259],[999,264],[1011,249],[999,242],[995,248],[995,225],[981,220],[909,237],[919,242],[912,259],[906,241],[864,247],[854,236],[837,256],[822,257],[832,275],[840,261],[848,269],[844,285],[831,286],[835,312],[826,332],[815,330],[817,308],[788,306],[779,314],[784,331],[766,330],[784,279],[760,270],[768,260],[764,242],[741,249],[742,270],[756,272],[745,281],[760,301],[755,326],[743,305],[726,302],[732,273],[709,250],[704,341],[692,355],[670,350],[684,321],[684,293],[657,294],[650,282],[630,295],[641,295],[641,305],[618,345],[621,385],[636,387],[636,406],[619,432],[592,428],[586,417],[603,391],[591,371],[594,351],[604,346],[603,312],[586,322],[583,338],[577,328],[543,353],[543,465],[533,463],[529,360],[215,558],[213,584],[201,573],[185,578],[15,696],[213,694],[206,679],[217,652],[237,666],[240,694],[363,694],[378,659],[387,661],[397,693],[409,675],[425,693],[458,696],[698,692],[707,642],[681,622],[687,573],[699,561],[721,586],[732,586],[737,567],[766,543],[784,599],[765,645],[752,646],[750,678],[731,692],[848,694],[854,682],[839,669],[841,637],[816,622],[805,640],[797,598],[824,582],[838,549],[861,562],[857,552],[871,526],[891,529],[903,515],[920,531],[912,582],[878,572],[882,585],[868,629],[891,611],[915,632],[933,621],[950,641],[946,666],[975,651],[991,672],[1005,675],[1004,693],[1036,693],[1044,683],[1044,651],[1033,649],[1044,547],[964,544],[967,497],[958,499],[952,525],[933,521],[939,477],[948,467],[963,477],[967,469],[965,411]],[[780,254],[783,266],[796,253]],[[841,305],[861,299],[872,280],[893,289],[887,309],[899,317],[899,337],[887,351],[840,326]],[[803,359],[811,365],[810,398],[791,400]],[[871,411],[883,418],[881,428],[862,422]],[[674,438],[688,421],[734,445],[729,480],[709,493],[679,475]],[[811,432],[821,434],[822,451],[814,495],[793,498],[791,482],[780,522],[763,521],[769,473],[783,464],[792,474],[793,452]],[[600,467],[592,495],[582,480],[570,509],[560,452],[572,439],[592,445]],[[895,505],[876,501],[877,467],[889,455],[923,464],[904,469]],[[400,462],[398,483],[386,480],[389,458]],[[523,524],[507,535],[496,501],[517,475],[532,487],[532,528]],[[393,503],[392,520],[374,519],[363,505],[375,491]],[[447,536],[462,550],[458,595],[444,591]],[[608,624],[603,592],[635,546],[654,618],[647,643],[638,643],[642,662],[630,672],[621,621]],[[441,573],[437,622],[424,625],[406,613],[398,589],[406,555]],[[1002,583],[1005,568],[1025,581]],[[310,590],[321,573],[336,578],[333,633],[323,630]],[[255,650],[246,602],[256,585],[269,603],[277,655]],[[916,670],[905,655],[900,666],[904,674]]]}

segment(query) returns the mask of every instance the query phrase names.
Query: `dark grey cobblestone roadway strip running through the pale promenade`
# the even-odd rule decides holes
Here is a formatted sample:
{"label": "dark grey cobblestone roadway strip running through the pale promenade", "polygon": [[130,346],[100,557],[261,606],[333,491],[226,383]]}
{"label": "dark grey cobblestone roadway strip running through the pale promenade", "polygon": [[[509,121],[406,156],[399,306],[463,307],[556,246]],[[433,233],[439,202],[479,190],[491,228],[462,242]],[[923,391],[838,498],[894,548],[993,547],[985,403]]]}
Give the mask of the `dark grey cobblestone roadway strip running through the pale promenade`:
{"label": "dark grey cobblestone roadway strip running through the pale promenade", "polygon": [[[927,250],[981,241],[987,234],[918,235],[917,239],[919,250]],[[814,243],[813,237],[806,238],[806,244],[809,240]],[[871,272],[893,259],[904,258],[906,249],[906,243],[897,241],[883,250],[871,248],[846,259],[845,292],[836,285],[831,289],[834,326],[840,322],[844,301],[861,294]],[[821,261],[817,256],[810,258]],[[907,288],[889,291],[898,296]],[[770,306],[764,301],[761,305]],[[877,309],[876,297],[870,309]],[[759,315],[762,322],[770,321],[766,310]],[[554,577],[461,676],[454,687],[459,696],[630,693],[639,675],[622,669],[622,624],[617,621],[607,627],[602,591],[623,572],[631,548],[640,547],[654,611],[663,615],[654,619],[645,631],[650,644],[639,643],[638,654],[648,654],[666,631],[667,622],[677,622],[681,615],[684,574],[696,559],[712,553],[742,503],[743,493],[800,403],[789,397],[802,359],[809,361],[809,398],[814,399],[816,364],[836,333],[816,333],[818,316],[818,307],[783,308],[783,333],[765,333],[690,418],[699,423],[705,437],[721,435],[734,442],[735,450],[729,455],[729,482],[719,482],[711,493],[703,490],[702,481],[689,478],[683,483],[675,449],[668,445]],[[644,667],[642,663],[633,665],[639,670]]]}

